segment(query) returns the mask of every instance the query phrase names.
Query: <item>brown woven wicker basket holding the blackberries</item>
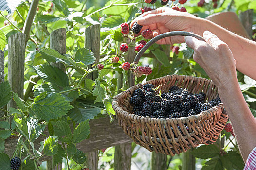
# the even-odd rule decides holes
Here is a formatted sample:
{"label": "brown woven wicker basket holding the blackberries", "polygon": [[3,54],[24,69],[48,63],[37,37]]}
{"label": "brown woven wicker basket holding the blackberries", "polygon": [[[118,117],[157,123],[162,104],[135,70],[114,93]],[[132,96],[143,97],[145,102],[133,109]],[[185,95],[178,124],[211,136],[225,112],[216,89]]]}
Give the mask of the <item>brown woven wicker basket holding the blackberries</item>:
{"label": "brown woven wicker basket holding the blackberries", "polygon": [[[146,48],[149,46],[150,44]],[[138,62],[146,48],[137,54],[135,62]],[[119,125],[136,144],[149,151],[174,156],[176,153],[186,152],[191,147],[216,142],[228,120],[227,114],[223,113],[222,103],[198,115],[182,118],[158,119],[132,114],[130,98],[136,89],[147,83],[151,83],[155,87],[160,85],[158,91],[161,90],[162,93],[168,92],[171,86],[177,85],[188,89],[191,93],[204,92],[208,101],[218,96],[217,87],[211,80],[181,75],[168,75],[150,80],[118,94],[113,99],[112,107],[116,112]],[[188,126],[188,129],[185,126]]]}

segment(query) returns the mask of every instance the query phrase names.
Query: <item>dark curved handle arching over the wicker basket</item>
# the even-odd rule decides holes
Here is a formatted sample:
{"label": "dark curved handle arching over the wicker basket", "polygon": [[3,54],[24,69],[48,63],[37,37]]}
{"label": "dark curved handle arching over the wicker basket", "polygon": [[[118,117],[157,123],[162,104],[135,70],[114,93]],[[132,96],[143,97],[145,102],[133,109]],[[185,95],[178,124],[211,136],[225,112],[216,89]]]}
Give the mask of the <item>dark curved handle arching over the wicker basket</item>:
{"label": "dark curved handle arching over the wicker basket", "polygon": [[[166,37],[169,37],[169,36],[193,36],[201,41],[205,41],[203,37],[201,37],[200,35],[198,34],[194,34],[194,33],[189,33],[189,32],[186,32],[186,31],[171,31],[171,32],[166,32],[164,34],[160,34],[160,35],[157,35],[155,36],[154,38],[152,38],[150,41],[148,41],[146,43],[146,45],[137,53],[136,57],[134,58],[134,63],[138,63],[141,56],[144,54],[144,52],[152,45],[154,44],[155,42],[157,42],[158,40],[160,39],[163,39],[163,38],[166,38]],[[135,76],[132,75],[132,86],[135,85]]]}

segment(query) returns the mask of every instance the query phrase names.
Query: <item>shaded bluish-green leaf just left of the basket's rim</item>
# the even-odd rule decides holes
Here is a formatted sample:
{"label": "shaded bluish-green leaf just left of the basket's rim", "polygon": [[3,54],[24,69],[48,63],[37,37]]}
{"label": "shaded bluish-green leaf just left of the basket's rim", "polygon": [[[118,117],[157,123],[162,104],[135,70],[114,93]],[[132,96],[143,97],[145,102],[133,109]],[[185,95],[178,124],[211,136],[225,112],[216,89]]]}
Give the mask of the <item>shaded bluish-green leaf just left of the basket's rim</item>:
{"label": "shaded bluish-green leaf just left of the basket's rim", "polygon": [[72,118],[76,123],[81,123],[88,119],[93,119],[100,113],[100,111],[101,109],[98,107],[79,108],[74,106],[74,108],[69,111],[69,117]]}

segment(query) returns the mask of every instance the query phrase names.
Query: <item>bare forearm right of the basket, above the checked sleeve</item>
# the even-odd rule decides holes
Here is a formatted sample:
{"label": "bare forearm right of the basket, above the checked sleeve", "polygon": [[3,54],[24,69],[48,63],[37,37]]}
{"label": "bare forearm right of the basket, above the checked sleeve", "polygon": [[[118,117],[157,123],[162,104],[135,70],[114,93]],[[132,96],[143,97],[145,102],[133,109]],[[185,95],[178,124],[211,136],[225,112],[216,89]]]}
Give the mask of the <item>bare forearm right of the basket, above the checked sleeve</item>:
{"label": "bare forearm right of the basket, above the checked sleeve", "polygon": [[249,153],[256,147],[256,119],[244,100],[237,79],[218,90],[231,121],[239,150],[246,161]]}

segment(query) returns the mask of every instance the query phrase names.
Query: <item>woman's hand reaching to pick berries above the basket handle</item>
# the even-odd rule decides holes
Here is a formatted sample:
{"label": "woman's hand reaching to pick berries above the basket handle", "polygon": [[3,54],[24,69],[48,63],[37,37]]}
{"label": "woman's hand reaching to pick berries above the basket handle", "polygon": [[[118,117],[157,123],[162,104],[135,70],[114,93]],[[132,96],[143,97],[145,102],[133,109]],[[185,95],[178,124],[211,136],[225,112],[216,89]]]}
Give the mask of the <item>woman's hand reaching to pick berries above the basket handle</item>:
{"label": "woman's hand reaching to pick berries above the basket handle", "polygon": [[[151,39],[159,34],[163,34],[169,31],[193,31],[197,33],[197,27],[201,26],[201,18],[195,17],[187,12],[179,12],[168,7],[157,8],[146,12],[139,17],[135,18],[130,27],[136,22],[144,27],[141,31],[150,28],[153,31],[152,36],[147,37]],[[135,35],[138,36],[141,33]],[[184,42],[183,36],[167,37],[159,40],[158,44],[174,44]]]}

